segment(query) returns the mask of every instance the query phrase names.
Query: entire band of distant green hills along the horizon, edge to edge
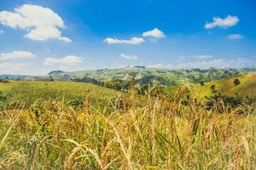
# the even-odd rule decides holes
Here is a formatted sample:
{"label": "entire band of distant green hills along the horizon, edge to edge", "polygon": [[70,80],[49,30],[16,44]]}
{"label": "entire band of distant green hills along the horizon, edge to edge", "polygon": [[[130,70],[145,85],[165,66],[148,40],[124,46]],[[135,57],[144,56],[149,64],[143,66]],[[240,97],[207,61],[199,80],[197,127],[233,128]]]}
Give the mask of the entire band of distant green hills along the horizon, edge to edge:
{"label": "entire band of distant green hills along the horizon, edge to edge", "polygon": [[212,82],[232,77],[237,74],[247,73],[253,69],[155,69],[144,66],[125,67],[120,69],[99,69],[87,71],[50,71],[48,75],[30,77],[22,75],[0,75],[0,78],[36,80],[36,81],[75,81],[91,82],[95,84],[119,84],[126,82],[127,77],[136,83],[147,86],[148,83],[157,81],[162,86],[176,86],[183,81],[194,83]]}

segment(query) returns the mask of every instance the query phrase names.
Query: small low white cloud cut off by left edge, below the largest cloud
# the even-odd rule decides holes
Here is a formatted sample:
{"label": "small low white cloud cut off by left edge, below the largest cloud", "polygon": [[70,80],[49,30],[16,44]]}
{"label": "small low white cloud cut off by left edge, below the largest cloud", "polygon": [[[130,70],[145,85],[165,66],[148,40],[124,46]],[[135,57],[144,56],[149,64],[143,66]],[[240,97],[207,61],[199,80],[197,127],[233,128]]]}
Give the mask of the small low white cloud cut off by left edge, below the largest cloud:
{"label": "small low white cloud cut off by left edge, below the largest cloud", "polygon": [[32,59],[36,55],[28,51],[13,51],[10,53],[0,54],[0,60],[9,60],[9,59]]}

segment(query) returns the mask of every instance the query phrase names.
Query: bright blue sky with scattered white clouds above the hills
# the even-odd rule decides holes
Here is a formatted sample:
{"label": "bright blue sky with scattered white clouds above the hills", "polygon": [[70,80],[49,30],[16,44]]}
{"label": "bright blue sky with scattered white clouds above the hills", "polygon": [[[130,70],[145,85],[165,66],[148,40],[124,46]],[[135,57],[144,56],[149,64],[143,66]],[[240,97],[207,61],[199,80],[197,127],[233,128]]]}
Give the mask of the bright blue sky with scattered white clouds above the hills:
{"label": "bright blue sky with scattered white clouds above the hills", "polygon": [[0,1],[0,74],[127,65],[255,67],[256,2]]}

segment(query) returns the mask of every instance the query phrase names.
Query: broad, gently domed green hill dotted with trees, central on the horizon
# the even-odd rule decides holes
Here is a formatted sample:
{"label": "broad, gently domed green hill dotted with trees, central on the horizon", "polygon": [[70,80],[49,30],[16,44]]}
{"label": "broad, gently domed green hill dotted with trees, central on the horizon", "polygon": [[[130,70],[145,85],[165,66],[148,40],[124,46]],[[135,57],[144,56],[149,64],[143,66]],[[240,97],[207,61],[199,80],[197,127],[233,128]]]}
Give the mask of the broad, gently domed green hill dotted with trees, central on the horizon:
{"label": "broad, gently domed green hill dotted with trees, central on the horizon", "polygon": [[145,77],[162,78],[163,84],[169,82],[168,85],[172,85],[172,82],[180,82],[183,78],[188,78],[190,82],[205,81],[209,82],[223,77],[229,77],[240,72],[245,72],[246,69],[154,69],[154,68],[138,68],[127,67],[121,69],[100,69],[90,71],[72,71],[72,72],[60,72],[56,74],[49,74],[55,77],[68,77],[68,78],[83,78],[92,77],[97,81],[123,80],[128,74],[137,80],[141,80]]}

